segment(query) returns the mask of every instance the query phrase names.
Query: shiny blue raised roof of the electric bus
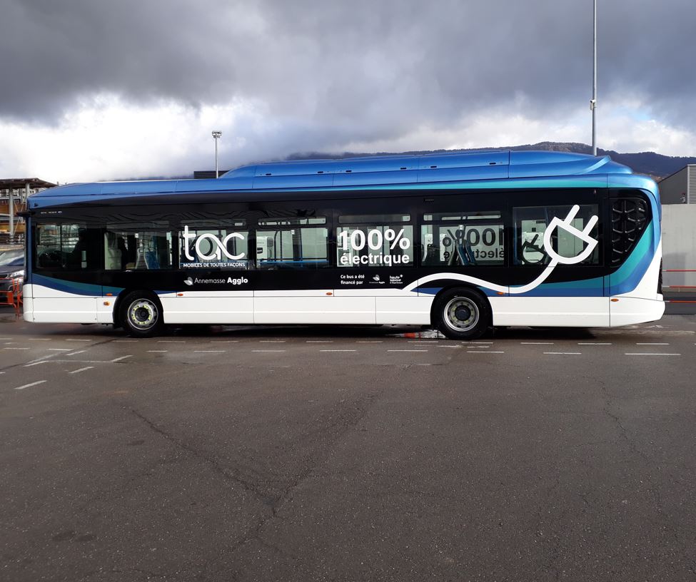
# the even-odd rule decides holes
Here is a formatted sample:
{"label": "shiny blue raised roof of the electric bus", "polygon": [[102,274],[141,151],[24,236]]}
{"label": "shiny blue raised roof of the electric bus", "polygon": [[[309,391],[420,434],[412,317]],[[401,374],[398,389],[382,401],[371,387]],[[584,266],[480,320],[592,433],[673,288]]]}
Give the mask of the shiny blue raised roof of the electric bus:
{"label": "shiny blue raised roof of the electric bus", "polygon": [[[629,176],[630,175],[630,176]],[[336,193],[344,190],[460,190],[478,188],[644,188],[650,178],[633,175],[608,155],[548,151],[478,151],[428,155],[379,155],[338,160],[299,160],[246,165],[213,180],[134,180],[70,184],[29,196],[29,209],[72,203],[109,203],[116,198],[160,198],[256,191]],[[316,196],[316,195],[315,195]],[[257,198],[257,197],[254,197]],[[260,198],[260,197],[259,197]],[[153,200],[155,201],[155,200]],[[135,202],[135,200],[133,200]]]}

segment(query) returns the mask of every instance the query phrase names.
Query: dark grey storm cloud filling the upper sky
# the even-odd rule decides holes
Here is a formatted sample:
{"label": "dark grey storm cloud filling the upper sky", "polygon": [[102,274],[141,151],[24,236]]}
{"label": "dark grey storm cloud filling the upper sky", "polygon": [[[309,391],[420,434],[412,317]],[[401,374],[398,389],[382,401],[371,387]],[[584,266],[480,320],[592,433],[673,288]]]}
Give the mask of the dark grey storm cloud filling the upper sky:
{"label": "dark grey storm cloud filling the upper sky", "polygon": [[[590,0],[0,0],[0,116],[56,121],[95,93],[248,99],[349,138],[444,127],[525,96],[564,116],[591,93]],[[649,98],[696,125],[693,0],[599,0],[600,106]]]}

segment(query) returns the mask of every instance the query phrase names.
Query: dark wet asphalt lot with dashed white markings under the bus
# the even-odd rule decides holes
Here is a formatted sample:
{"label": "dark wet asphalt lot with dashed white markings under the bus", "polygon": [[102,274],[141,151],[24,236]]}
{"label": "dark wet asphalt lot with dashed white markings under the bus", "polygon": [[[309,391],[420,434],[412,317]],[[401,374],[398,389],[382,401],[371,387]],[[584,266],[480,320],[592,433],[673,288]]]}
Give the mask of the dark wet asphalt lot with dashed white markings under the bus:
{"label": "dark wet asphalt lot with dashed white markings under the bus", "polygon": [[[6,314],[5,314],[6,315]],[[696,316],[0,320],[0,579],[696,579]]]}

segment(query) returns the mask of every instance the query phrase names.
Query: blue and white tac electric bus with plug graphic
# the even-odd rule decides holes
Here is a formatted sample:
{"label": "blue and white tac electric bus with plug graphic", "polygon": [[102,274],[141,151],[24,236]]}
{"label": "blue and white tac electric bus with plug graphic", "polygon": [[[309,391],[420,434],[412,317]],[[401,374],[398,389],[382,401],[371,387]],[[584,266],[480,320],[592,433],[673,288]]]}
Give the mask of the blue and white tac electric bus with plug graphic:
{"label": "blue and white tac electric bus with plug graphic", "polygon": [[575,153],[248,165],[29,197],[24,319],[493,326],[660,319],[655,182]]}

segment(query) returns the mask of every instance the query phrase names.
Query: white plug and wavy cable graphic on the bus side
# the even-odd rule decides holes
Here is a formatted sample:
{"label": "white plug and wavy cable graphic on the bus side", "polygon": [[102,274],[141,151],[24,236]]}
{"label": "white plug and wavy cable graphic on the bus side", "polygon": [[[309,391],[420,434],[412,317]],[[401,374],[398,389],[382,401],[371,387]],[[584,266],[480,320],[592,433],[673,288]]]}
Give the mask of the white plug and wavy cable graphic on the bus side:
{"label": "white plug and wavy cable graphic on the bus side", "polygon": [[[577,265],[579,262],[586,260],[587,257],[592,254],[592,251],[595,250],[597,240],[590,236],[590,232],[592,232],[592,228],[595,227],[595,224],[597,224],[597,220],[599,220],[599,218],[597,218],[596,215],[592,215],[590,220],[587,220],[585,229],[578,230],[573,226],[572,223],[579,210],[580,206],[576,204],[570,209],[570,212],[563,220],[558,218],[558,216],[551,219],[551,222],[544,233],[544,250],[551,260],[543,272],[527,285],[522,285],[520,287],[507,287],[506,285],[498,285],[496,283],[484,281],[483,279],[478,279],[478,277],[470,277],[470,275],[461,275],[460,273],[436,273],[435,275],[426,275],[425,277],[421,277],[413,283],[410,283],[410,285],[407,285],[404,288],[404,291],[413,291],[416,287],[422,287],[423,284],[438,279],[455,279],[458,281],[472,283],[478,287],[485,287],[486,289],[496,292],[510,293],[510,295],[520,295],[521,293],[531,291],[547,280],[557,265]],[[553,242],[551,241],[551,235],[557,228],[562,228],[567,233],[570,233],[571,235],[582,240],[582,242],[585,242],[587,245],[585,250],[580,252],[580,254],[576,255],[575,257],[562,257],[559,255],[558,252],[553,250]]]}

